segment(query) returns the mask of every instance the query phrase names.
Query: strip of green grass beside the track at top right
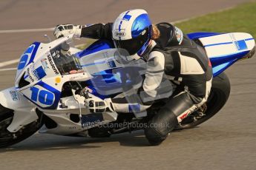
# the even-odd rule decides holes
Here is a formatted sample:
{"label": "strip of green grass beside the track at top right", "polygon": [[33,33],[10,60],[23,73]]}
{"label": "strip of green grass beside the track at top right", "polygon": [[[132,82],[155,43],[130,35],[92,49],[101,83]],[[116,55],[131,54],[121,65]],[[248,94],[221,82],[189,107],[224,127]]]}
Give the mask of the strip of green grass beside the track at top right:
{"label": "strip of green grass beside the track at top right", "polygon": [[242,32],[250,33],[256,38],[256,1],[241,4],[229,10],[193,18],[175,25],[180,30],[183,30],[183,33]]}

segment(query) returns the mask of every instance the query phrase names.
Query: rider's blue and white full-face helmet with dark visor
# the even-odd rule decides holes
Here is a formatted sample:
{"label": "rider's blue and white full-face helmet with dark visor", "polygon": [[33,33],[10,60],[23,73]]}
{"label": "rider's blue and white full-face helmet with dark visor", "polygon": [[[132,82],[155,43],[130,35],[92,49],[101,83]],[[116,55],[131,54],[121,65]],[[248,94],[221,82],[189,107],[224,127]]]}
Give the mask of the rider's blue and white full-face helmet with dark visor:
{"label": "rider's blue and white full-face helmet with dark visor", "polygon": [[127,10],[114,21],[112,28],[116,48],[128,52],[128,61],[137,60],[151,44],[152,24],[145,10]]}

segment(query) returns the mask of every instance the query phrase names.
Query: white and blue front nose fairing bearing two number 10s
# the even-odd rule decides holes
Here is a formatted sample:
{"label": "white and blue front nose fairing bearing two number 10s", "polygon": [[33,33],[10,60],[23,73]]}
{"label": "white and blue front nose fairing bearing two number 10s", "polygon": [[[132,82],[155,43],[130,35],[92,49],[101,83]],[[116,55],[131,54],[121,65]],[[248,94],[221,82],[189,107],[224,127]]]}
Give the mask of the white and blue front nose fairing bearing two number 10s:
{"label": "white and blue front nose fairing bearing two number 10s", "polygon": [[[68,40],[69,38],[61,38],[49,44],[34,42],[21,56],[15,88],[39,108],[56,109],[62,85],[72,79],[73,75],[62,74],[53,61],[55,49]],[[78,51],[74,50],[74,52]],[[86,72],[78,73],[72,80],[76,81],[77,78],[88,80],[91,75]]]}

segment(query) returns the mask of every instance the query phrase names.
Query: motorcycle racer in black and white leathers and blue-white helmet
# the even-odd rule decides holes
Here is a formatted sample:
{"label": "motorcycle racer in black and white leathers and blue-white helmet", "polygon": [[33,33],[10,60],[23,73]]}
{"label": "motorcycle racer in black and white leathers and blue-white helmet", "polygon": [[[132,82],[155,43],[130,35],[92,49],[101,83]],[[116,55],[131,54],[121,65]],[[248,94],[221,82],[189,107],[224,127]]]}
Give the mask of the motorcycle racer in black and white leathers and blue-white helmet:
{"label": "motorcycle racer in black and white leathers and blue-white helmet", "polygon": [[[160,111],[149,121],[154,126],[145,129],[148,141],[160,144],[168,133],[186,116],[207,101],[211,90],[211,63],[203,48],[183,35],[172,24],[151,24],[145,10],[128,10],[121,13],[114,23],[89,26],[62,24],[56,26],[56,38],[74,34],[74,37],[107,39],[114,46],[128,52],[128,61],[142,59],[147,62],[145,79],[140,92],[150,101],[131,103],[126,98],[107,98],[104,104],[111,111],[134,112],[148,109],[157,96],[157,89],[164,79],[176,81],[179,88],[168,98]],[[141,96],[141,95],[140,95]],[[89,99],[90,100],[90,99]],[[96,112],[98,101],[88,101]],[[138,105],[139,104],[139,105]],[[99,108],[102,108],[100,104]],[[157,125],[157,126],[156,126]]]}

